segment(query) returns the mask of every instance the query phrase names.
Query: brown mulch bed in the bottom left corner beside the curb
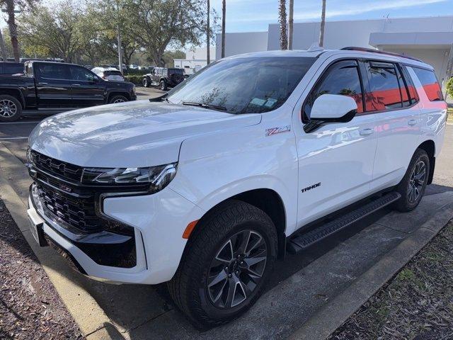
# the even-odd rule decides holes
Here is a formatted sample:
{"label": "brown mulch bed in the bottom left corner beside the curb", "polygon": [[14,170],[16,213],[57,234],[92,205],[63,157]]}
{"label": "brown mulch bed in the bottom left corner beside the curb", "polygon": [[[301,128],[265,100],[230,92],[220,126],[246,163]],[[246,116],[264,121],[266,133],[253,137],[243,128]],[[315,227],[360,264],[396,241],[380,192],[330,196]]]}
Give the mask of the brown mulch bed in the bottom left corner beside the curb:
{"label": "brown mulch bed in the bottom left corner beside the curb", "polygon": [[84,339],[1,200],[0,339]]}

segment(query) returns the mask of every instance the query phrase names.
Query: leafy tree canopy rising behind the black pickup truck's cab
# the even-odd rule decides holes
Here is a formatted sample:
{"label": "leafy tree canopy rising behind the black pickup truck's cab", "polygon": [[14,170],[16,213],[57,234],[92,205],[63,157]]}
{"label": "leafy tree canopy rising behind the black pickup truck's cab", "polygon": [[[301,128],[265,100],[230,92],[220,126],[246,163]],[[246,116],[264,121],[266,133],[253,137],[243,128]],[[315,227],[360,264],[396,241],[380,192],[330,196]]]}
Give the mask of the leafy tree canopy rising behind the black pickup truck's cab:
{"label": "leafy tree canopy rising behind the black pickup truck's cab", "polygon": [[71,1],[52,9],[37,6],[21,16],[20,28],[25,52],[39,51],[67,62],[80,59],[96,36],[84,11]]}

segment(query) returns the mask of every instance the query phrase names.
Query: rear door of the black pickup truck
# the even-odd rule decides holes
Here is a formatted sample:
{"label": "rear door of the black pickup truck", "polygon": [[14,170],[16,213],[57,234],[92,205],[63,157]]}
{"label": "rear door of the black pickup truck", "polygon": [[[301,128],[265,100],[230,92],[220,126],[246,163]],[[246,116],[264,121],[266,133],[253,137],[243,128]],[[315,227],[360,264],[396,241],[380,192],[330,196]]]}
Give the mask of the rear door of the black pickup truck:
{"label": "rear door of the black pickup truck", "polygon": [[69,67],[57,63],[33,63],[38,106],[72,107]]}

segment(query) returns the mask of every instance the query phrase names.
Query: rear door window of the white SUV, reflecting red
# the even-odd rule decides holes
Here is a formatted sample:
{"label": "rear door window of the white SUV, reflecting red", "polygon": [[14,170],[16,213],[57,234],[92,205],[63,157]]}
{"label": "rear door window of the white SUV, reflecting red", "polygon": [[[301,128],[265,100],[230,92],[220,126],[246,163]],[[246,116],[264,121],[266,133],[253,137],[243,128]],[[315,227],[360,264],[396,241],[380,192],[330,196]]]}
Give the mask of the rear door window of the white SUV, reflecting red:
{"label": "rear door window of the white SUV, reflecting red", "polygon": [[366,96],[367,111],[401,108],[401,92],[394,64],[369,62],[367,67],[370,90]]}

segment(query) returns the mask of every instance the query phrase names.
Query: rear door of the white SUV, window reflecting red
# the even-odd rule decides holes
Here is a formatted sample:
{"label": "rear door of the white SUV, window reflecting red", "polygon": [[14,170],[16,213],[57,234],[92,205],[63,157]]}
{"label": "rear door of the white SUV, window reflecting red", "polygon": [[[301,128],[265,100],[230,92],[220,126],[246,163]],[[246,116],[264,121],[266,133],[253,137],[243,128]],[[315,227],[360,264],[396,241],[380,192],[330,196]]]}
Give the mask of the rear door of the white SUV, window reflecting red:
{"label": "rear door of the white SUV, window reflecting red", "polygon": [[420,140],[420,108],[410,92],[410,77],[400,64],[365,62],[366,108],[379,117],[373,191],[394,186],[403,178]]}

